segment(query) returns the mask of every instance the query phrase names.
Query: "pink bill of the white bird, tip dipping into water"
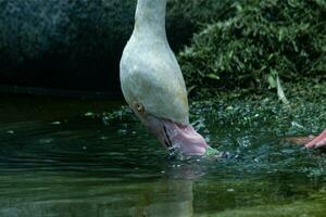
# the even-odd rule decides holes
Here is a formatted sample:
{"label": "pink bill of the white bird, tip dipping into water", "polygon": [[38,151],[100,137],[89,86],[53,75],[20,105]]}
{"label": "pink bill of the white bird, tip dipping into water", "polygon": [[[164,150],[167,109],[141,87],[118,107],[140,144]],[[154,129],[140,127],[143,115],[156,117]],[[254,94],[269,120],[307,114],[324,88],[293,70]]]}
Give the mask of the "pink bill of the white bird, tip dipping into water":
{"label": "pink bill of the white bird, tip dipping into water", "polygon": [[150,117],[146,125],[171,152],[185,155],[205,155],[209,145],[191,125],[183,126],[155,117]]}

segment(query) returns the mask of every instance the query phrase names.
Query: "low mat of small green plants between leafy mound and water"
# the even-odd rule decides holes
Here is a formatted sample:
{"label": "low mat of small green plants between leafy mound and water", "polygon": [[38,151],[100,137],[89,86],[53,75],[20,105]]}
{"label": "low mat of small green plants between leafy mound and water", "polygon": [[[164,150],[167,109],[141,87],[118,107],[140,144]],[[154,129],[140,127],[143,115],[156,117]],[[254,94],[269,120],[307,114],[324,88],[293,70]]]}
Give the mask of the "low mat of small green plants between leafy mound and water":
{"label": "low mat of small green plants between leafy mound and water", "polygon": [[[287,89],[291,99],[289,105],[280,104],[273,92],[265,94],[246,94],[234,91],[221,94],[216,99],[192,101],[190,113],[192,119],[220,125],[226,125],[247,130],[274,131],[278,136],[294,136],[318,133],[326,123],[326,82],[291,84]],[[260,126],[265,126],[262,129]],[[202,127],[204,129],[205,127]]]}

